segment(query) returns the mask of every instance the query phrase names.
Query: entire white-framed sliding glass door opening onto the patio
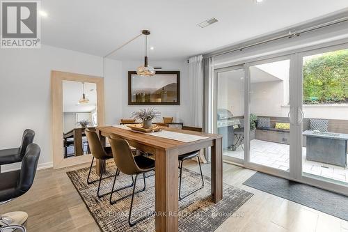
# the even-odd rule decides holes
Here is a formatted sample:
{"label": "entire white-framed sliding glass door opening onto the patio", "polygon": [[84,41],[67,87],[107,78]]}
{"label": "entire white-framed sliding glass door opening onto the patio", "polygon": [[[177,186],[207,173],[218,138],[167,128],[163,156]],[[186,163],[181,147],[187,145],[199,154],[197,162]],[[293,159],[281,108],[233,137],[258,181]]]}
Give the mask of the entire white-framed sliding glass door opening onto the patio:
{"label": "entire white-framed sliding glass door opening onto the patio", "polygon": [[214,72],[223,159],[348,194],[348,44]]}

